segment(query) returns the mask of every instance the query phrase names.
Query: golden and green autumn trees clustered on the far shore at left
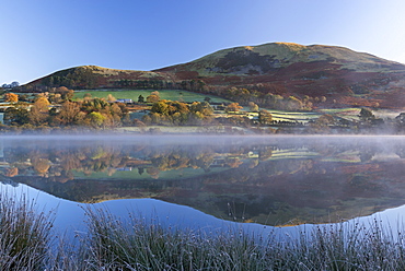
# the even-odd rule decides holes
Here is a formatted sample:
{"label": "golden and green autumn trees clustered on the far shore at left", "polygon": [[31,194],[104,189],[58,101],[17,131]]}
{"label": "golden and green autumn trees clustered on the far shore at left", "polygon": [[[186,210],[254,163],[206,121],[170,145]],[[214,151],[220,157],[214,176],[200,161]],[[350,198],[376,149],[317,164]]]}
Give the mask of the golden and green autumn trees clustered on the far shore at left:
{"label": "golden and green autumn trees clustered on the far shore at left", "polygon": [[[18,95],[4,95],[13,106],[4,110],[3,122],[8,126],[32,127],[88,127],[114,128],[129,123],[129,111],[123,103],[108,103],[103,98],[71,101],[66,95],[38,94],[33,103],[19,102]],[[57,101],[51,104],[49,101]]]}

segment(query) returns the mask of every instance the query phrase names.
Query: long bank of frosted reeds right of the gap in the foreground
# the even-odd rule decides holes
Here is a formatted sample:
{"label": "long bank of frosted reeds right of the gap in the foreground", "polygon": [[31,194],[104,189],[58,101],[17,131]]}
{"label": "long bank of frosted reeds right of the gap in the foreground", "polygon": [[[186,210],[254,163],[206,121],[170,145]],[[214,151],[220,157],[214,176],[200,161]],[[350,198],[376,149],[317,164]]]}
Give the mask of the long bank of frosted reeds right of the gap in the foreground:
{"label": "long bank of frosted reeds right of the gap in the foreground", "polygon": [[167,228],[88,210],[93,270],[405,270],[402,232],[382,222],[319,225],[293,236]]}

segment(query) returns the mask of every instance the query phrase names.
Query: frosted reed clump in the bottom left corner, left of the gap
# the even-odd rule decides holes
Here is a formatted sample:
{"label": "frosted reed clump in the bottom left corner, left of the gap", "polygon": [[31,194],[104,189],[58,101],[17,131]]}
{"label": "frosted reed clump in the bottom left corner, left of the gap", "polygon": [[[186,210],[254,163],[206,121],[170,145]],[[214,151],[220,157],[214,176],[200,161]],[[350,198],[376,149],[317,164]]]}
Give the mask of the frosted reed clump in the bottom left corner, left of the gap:
{"label": "frosted reed clump in the bottom left corner, left of the gap", "polygon": [[0,270],[42,270],[53,239],[50,214],[35,201],[0,195]]}

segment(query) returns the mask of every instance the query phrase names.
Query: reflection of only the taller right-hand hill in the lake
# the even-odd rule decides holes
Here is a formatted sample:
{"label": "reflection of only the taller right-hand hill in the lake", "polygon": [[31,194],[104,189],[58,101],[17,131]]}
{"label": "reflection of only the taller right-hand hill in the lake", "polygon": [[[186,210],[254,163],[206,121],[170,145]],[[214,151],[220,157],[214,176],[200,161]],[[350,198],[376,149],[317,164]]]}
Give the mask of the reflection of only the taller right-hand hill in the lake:
{"label": "reflection of only the taller right-hand hill in the lake", "polygon": [[[229,219],[259,223],[338,221],[404,204],[401,176],[405,169],[398,169],[403,166],[402,161],[359,167],[309,160],[267,162],[253,170],[240,167],[228,172],[225,178],[207,176],[197,196],[174,195],[164,200],[210,213],[216,210],[221,217],[229,217],[231,204]],[[390,173],[393,168],[396,170]]]}

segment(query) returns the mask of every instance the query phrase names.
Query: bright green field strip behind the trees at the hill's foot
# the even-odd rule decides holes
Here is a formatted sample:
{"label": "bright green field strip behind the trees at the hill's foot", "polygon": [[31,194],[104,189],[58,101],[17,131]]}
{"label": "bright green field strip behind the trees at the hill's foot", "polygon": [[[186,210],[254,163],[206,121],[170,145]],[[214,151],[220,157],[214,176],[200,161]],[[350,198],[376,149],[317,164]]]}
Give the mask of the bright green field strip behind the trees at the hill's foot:
{"label": "bright green field strip behind the trees at the hill's foot", "polygon": [[[76,91],[74,98],[83,98],[85,93],[90,93],[92,97],[106,98],[112,94],[115,98],[131,98],[134,102],[138,101],[139,95],[144,98],[155,90],[96,90],[96,91]],[[205,95],[181,90],[161,90],[158,91],[161,99],[180,101],[180,102],[204,102],[206,97],[210,98],[210,103],[232,103],[232,101],[216,97],[212,95]]]}

